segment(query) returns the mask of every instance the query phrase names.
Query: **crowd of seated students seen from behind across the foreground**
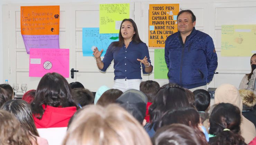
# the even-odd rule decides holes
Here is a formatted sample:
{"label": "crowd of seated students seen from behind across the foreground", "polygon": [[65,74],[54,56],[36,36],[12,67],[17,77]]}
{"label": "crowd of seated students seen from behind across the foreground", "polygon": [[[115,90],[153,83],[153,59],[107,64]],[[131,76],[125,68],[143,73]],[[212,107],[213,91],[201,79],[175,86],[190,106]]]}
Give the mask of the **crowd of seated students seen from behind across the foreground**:
{"label": "crowd of seated students seen from behind across the foreground", "polygon": [[[71,86],[75,88],[72,90]],[[68,84],[54,72],[44,75],[37,90],[26,92],[23,100],[12,100],[12,93],[0,85],[0,144],[252,145],[256,142],[256,96],[252,91],[238,91],[235,86],[222,84],[214,95],[216,105],[209,110],[210,94],[206,90],[192,93],[171,83],[159,87],[150,80],[141,82],[140,90],[123,93],[101,86],[93,98],[92,92],[81,83]],[[95,105],[90,105],[93,100]]]}

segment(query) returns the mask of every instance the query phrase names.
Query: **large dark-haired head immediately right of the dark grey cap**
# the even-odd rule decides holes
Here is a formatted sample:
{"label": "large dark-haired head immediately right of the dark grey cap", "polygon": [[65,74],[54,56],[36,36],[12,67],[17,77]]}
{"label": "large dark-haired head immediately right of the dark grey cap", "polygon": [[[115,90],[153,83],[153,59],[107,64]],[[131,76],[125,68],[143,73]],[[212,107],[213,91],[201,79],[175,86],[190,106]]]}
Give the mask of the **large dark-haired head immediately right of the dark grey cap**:
{"label": "large dark-haired head immediately right of the dark grey cap", "polygon": [[150,122],[154,124],[168,111],[190,107],[185,90],[179,85],[167,84],[159,89],[155,101],[149,107]]}

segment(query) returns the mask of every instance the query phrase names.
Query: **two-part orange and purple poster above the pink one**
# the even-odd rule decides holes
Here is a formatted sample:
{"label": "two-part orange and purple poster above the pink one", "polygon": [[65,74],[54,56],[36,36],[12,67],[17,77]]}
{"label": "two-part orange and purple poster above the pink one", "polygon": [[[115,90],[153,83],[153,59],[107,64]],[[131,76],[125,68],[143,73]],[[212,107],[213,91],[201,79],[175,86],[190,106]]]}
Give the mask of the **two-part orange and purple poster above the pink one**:
{"label": "two-part orange and purple poster above the pink one", "polygon": [[20,25],[27,54],[30,48],[60,48],[60,6],[21,6]]}

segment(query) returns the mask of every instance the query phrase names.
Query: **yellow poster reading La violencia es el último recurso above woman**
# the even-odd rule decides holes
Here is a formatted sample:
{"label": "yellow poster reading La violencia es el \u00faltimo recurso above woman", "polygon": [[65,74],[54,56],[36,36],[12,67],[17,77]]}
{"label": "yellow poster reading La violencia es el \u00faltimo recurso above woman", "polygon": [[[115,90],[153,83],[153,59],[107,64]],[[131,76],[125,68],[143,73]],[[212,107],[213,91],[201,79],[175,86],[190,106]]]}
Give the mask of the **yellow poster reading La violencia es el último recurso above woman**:
{"label": "yellow poster reading La violencia es el \u00faltimo recurso above woman", "polygon": [[123,19],[130,18],[130,4],[100,4],[100,33],[119,33]]}

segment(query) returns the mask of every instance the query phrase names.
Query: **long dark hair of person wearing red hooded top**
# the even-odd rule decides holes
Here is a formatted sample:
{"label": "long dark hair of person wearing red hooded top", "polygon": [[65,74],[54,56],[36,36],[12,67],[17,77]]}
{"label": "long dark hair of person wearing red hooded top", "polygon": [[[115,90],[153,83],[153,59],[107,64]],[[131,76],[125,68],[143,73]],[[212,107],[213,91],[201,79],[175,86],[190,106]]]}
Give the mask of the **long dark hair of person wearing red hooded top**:
{"label": "long dark hair of person wearing red hooded top", "polygon": [[71,87],[62,75],[56,72],[47,73],[39,81],[35,99],[31,103],[32,113],[38,119],[41,119],[44,114],[42,105],[52,107],[76,106],[72,99]]}

